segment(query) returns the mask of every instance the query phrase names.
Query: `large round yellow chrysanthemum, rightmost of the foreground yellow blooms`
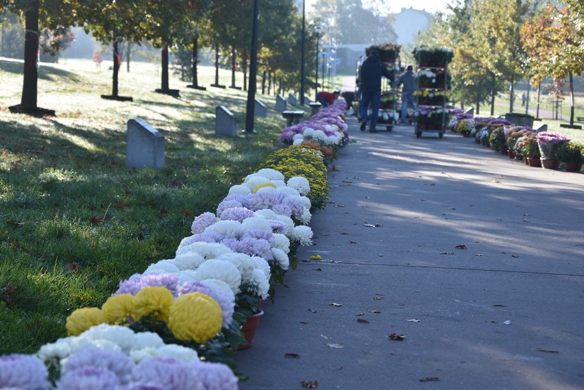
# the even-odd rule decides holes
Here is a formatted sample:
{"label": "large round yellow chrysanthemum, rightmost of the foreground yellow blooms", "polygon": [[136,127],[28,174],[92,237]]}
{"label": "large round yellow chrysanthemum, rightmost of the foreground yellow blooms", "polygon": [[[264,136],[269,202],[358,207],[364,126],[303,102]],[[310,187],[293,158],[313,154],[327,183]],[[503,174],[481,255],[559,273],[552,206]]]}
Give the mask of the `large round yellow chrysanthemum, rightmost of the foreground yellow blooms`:
{"label": "large round yellow chrysanthemum, rightmost of the foreground yellow blooms", "polygon": [[204,344],[221,330],[221,307],[212,297],[190,293],[178,297],[170,310],[169,329],[180,340]]}

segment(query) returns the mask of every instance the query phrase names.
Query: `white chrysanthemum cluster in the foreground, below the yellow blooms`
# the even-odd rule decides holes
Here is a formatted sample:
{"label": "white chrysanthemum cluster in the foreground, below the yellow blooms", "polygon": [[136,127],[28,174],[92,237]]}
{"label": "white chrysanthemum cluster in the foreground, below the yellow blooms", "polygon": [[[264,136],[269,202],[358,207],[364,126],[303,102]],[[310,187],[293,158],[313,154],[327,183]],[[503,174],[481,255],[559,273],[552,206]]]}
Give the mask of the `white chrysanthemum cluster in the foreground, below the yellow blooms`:
{"label": "white chrysanthemum cluster in the foreground, below the yellow blooms", "polygon": [[64,337],[42,345],[37,356],[45,363],[59,363],[63,367],[69,356],[90,348],[121,351],[134,363],[152,356],[169,356],[181,361],[199,360],[197,351],[182,345],[167,345],[156,333],[134,333],[126,326],[108,324],[93,326],[79,336]]}

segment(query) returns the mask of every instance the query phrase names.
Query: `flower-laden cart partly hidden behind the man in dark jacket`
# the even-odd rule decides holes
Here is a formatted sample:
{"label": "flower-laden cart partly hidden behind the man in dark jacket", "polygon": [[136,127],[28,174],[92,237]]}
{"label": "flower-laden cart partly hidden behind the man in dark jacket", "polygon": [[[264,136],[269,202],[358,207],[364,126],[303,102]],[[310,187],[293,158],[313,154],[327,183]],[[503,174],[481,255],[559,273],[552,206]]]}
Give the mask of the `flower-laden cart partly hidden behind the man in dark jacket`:
{"label": "flower-laden cart partly hidden behind the man in dark jacket", "polygon": [[[369,56],[372,50],[376,50],[379,53],[381,60],[384,62],[387,70],[391,72],[393,77],[385,82],[382,82],[381,100],[379,104],[378,112],[378,125],[385,125],[388,132],[393,130],[393,124],[399,118],[398,114],[398,91],[396,90],[396,72],[401,67],[400,60],[400,45],[393,43],[383,43],[381,45],[372,45],[365,48],[365,54]],[[360,66],[358,64],[357,73],[360,73]],[[361,97],[361,93],[357,91],[356,95]],[[361,99],[359,99],[361,101]],[[367,110],[367,116],[371,115],[371,110]],[[361,118],[359,118],[361,119]]]}

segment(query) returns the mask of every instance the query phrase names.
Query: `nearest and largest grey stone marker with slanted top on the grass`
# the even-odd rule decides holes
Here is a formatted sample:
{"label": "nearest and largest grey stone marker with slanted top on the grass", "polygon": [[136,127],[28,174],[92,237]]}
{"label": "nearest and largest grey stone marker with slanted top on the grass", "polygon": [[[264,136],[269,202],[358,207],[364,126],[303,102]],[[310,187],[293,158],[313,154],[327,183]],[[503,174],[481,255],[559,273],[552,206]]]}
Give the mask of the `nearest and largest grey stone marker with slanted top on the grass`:
{"label": "nearest and largest grey stone marker with slanted top on the grass", "polygon": [[162,168],[165,166],[165,136],[144,119],[127,121],[125,166]]}

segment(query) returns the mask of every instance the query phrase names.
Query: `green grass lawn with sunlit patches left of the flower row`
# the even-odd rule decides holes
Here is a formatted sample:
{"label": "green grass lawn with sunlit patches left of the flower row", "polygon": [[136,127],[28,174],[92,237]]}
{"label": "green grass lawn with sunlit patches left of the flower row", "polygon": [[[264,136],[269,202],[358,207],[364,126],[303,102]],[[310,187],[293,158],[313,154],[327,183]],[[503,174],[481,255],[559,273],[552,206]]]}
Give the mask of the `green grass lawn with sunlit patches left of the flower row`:
{"label": "green grass lawn with sunlit patches left of the flower row", "polygon": [[[111,93],[106,66],[61,60],[41,64],[38,82],[38,106],[56,116],[12,114],[21,69],[0,58],[0,354],[65,336],[75,308],[101,305],[120,280],[173,258],[193,218],[256,171],[285,126],[274,97],[258,95],[269,108],[258,134],[215,136],[219,105],[243,130],[246,92],[194,90],[171,77],[181,98],[160,95],[157,67],[136,62],[119,85],[133,102],[100,98]],[[230,72],[220,77],[230,84]],[[201,67],[199,84],[212,82],[214,69]],[[165,136],[163,169],[125,167],[126,123],[138,117]]]}

